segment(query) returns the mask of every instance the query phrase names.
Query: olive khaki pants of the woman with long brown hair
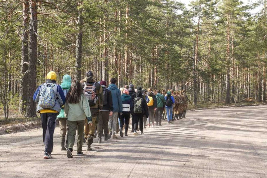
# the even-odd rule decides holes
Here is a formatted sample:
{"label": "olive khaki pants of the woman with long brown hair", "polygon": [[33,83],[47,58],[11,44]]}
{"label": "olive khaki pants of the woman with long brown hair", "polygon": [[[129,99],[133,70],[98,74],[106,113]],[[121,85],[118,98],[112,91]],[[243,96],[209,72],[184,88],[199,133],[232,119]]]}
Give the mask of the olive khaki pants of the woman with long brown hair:
{"label": "olive khaki pants of the woman with long brown hair", "polygon": [[68,148],[73,149],[74,142],[75,142],[75,135],[76,135],[76,130],[78,133],[78,139],[77,139],[77,152],[82,151],[83,147],[83,127],[84,127],[84,120],[82,121],[68,121],[68,137],[69,137],[69,142],[68,142]]}

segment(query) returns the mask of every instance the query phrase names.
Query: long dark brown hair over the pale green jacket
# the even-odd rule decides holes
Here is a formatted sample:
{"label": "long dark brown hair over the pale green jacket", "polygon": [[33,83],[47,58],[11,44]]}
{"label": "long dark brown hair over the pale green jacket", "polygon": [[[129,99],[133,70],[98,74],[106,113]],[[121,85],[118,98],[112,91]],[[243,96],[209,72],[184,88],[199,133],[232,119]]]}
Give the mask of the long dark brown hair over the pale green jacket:
{"label": "long dark brown hair over the pale green jacket", "polygon": [[78,80],[71,82],[71,88],[66,97],[66,102],[68,103],[78,103],[81,99],[81,94],[83,93],[81,83]]}

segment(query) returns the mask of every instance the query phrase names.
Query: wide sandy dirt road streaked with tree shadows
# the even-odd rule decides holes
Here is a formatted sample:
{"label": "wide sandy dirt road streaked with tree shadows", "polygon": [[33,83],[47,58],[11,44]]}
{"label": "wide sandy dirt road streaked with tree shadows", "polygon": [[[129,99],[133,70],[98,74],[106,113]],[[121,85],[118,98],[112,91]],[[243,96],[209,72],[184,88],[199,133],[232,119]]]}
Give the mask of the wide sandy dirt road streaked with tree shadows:
{"label": "wide sandy dirt road streaked with tree shadows", "polygon": [[59,151],[58,128],[49,160],[41,129],[1,135],[0,177],[267,177],[266,117],[267,106],[189,111],[72,159]]}

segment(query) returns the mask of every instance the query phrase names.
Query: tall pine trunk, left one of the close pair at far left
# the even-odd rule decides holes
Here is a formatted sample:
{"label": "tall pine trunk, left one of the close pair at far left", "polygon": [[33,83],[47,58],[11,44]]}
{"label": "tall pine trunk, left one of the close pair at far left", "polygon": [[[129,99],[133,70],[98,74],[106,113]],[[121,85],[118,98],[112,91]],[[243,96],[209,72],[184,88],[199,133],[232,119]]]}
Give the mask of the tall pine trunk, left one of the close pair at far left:
{"label": "tall pine trunk, left one of the close pair at far left", "polygon": [[27,100],[27,87],[28,87],[28,37],[29,37],[29,1],[23,0],[23,10],[22,10],[22,37],[21,37],[21,62],[20,62],[20,103],[19,103],[19,112],[23,114],[25,111],[26,100]]}

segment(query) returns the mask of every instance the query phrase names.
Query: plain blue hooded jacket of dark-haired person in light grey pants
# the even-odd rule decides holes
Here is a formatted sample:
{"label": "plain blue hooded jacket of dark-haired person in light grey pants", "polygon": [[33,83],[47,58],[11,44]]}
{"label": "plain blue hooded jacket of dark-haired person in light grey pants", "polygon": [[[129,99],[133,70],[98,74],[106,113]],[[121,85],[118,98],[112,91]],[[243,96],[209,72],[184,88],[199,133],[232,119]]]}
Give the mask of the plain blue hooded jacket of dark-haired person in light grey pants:
{"label": "plain blue hooded jacket of dark-haired person in light grey pants", "polygon": [[121,90],[116,84],[109,84],[108,89],[112,96],[113,112],[122,112]]}

